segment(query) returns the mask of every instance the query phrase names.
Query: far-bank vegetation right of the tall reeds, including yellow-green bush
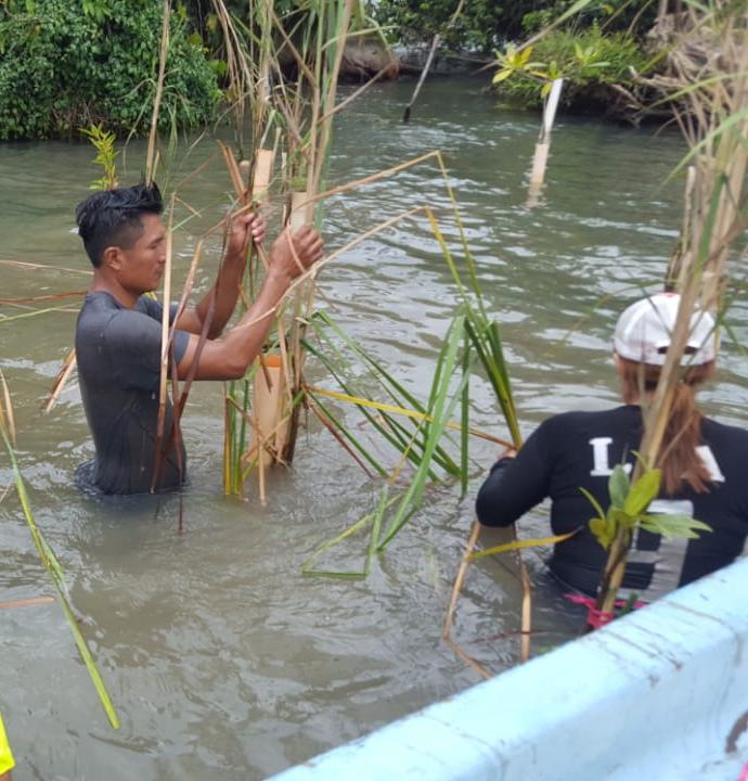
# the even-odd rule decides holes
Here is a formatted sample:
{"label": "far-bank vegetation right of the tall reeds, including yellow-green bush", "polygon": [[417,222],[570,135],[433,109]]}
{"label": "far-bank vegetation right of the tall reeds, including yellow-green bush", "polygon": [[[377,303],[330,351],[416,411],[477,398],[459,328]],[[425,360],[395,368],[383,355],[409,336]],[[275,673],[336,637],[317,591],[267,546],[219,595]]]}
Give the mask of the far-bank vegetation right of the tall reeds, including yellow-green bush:
{"label": "far-bank vegetation right of the tall reeds, including yellow-green bush", "polygon": [[[489,72],[501,104],[538,108],[549,85],[564,78],[567,111],[637,125],[672,119],[683,102],[662,101],[660,77],[692,24],[688,2],[675,0],[555,0],[466,3],[455,0],[382,0],[375,18],[394,43],[417,49],[439,36],[446,72]],[[738,3],[745,13],[745,4]],[[460,8],[456,17],[455,8]],[[693,31],[693,29],[692,29]],[[688,46],[701,60],[717,41]],[[425,49],[424,49],[425,51]]]}

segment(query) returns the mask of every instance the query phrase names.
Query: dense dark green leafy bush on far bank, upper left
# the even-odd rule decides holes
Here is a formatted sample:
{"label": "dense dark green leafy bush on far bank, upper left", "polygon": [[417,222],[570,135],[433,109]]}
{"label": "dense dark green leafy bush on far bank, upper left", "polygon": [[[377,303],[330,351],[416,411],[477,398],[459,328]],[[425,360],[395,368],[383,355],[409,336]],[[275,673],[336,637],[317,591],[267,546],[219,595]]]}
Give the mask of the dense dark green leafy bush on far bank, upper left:
{"label": "dense dark green leafy bush on far bank, upper left", "polygon": [[[154,0],[5,0],[0,4],[0,139],[77,133],[102,123],[141,133],[151,120],[163,5]],[[212,119],[215,71],[186,14],[173,12],[160,123]]]}

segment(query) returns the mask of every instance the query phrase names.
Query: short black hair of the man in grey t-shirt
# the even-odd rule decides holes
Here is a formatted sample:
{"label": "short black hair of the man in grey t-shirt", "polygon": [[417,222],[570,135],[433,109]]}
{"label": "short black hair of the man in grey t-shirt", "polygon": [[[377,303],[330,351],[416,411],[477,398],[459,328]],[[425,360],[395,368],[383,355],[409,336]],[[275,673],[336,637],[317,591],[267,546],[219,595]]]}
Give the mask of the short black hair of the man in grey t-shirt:
{"label": "short black hair of the man in grey t-shirt", "polygon": [[142,214],[164,210],[160,191],[153,184],[99,190],[78,204],[75,219],[78,235],[91,263],[101,266],[107,246],[129,249],[143,233]]}

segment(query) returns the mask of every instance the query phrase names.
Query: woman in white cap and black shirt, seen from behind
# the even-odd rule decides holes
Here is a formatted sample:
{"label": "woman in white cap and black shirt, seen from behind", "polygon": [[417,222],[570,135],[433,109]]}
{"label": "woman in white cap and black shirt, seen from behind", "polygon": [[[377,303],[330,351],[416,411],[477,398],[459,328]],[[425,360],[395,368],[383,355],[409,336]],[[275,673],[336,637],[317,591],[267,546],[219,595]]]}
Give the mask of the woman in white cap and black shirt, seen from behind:
{"label": "woman in white cap and black shirt, seen from behind", "polygon": [[[642,393],[657,385],[680,297],[661,293],[630,306],[614,336],[614,360],[626,406],[604,412],[567,412],[550,418],[518,453],[504,452],[478,494],[476,511],[486,526],[508,526],[546,497],[554,534],[579,529],[555,546],[551,573],[565,586],[594,596],[606,552],[588,526],[592,507],[580,491],[609,504],[612,466],[630,471],[642,439]],[[662,492],[653,513],[688,515],[711,526],[698,539],[666,539],[640,529],[633,541],[621,596],[650,601],[730,564],[748,533],[748,432],[704,418],[695,389],[714,371],[714,321],[695,312],[666,430]],[[516,456],[516,458],[515,458]]]}

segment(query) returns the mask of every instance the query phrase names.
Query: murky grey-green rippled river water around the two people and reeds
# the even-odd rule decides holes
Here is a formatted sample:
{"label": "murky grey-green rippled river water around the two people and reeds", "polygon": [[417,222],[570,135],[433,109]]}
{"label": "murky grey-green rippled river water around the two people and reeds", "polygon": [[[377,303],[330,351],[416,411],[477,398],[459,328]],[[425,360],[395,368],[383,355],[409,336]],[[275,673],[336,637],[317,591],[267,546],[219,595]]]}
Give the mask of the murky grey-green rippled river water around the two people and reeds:
{"label": "murky grey-green rippled river water around the two people and reeds", "polygon": [[[495,110],[472,81],[434,81],[403,126],[409,94],[409,85],[377,86],[343,115],[331,183],[440,149],[488,304],[503,323],[525,432],[555,412],[610,406],[609,336],[622,304],[607,296],[632,299],[662,276],[680,223],[681,184],[663,183],[683,152],[678,137],[563,118],[542,203],[528,209],[536,117]],[[142,152],[130,146],[124,179],[138,179]],[[82,144],[0,146],[0,259],[57,269],[2,266],[3,297],[86,286],[87,261],[70,229],[73,207],[98,175],[92,156]],[[208,140],[172,181],[205,161],[199,180],[182,190],[199,215],[178,235],[178,274],[228,203],[228,177]],[[325,207],[327,244],[341,246],[424,203],[437,209],[456,249],[434,165],[333,199]],[[203,289],[218,251],[204,254]],[[418,217],[370,239],[322,279],[322,306],[423,397],[455,306],[426,221]],[[92,449],[75,386],[52,414],[39,414],[72,344],[76,308],[73,298],[61,311],[0,322],[0,367],[13,388],[31,504],[67,573],[122,727],[108,728],[56,604],[0,611],[0,709],[17,779],[262,778],[476,681],[440,641],[473,520],[472,496],[461,501],[454,486],[427,492],[424,511],[367,580],[304,578],[305,559],[374,505],[379,484],[310,421],[293,472],[272,475],[267,507],[253,490],[244,502],[225,499],[222,394],[218,384],[204,384],[193,389],[185,417],[191,485],[183,533],[173,497],[113,504],[80,496],[72,474]],[[730,321],[745,338],[743,306]],[[741,423],[748,364],[730,344],[724,353],[705,407]],[[325,382],[313,363],[310,372]],[[505,434],[486,385],[476,383],[473,405],[477,427]],[[491,446],[475,443],[473,494],[494,456]],[[0,460],[0,490],[10,478]],[[524,536],[544,529],[543,509],[523,524]],[[498,543],[504,534],[485,541]],[[51,592],[12,495],[0,505],[0,547],[1,600]],[[352,539],[324,564],[360,568],[364,549],[364,539]],[[580,616],[546,581],[541,554],[527,558],[540,652],[573,636]],[[494,670],[518,652],[520,589],[503,563],[472,569],[454,629]]]}

